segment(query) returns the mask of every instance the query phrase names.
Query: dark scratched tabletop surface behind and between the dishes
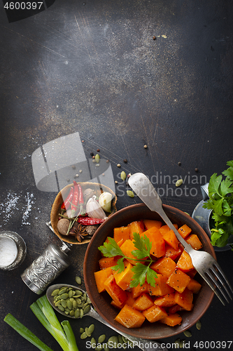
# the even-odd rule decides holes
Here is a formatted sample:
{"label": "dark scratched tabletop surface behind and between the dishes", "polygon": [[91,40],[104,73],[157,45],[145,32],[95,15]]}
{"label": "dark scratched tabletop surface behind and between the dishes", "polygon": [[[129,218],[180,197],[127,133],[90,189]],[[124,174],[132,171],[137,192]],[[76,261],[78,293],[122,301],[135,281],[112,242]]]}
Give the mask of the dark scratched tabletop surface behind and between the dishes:
{"label": "dark scratched tabletop surface behind and between the dishes", "polygon": [[[171,183],[162,201],[192,214],[200,185],[233,159],[232,15],[230,0],[56,0],[38,15],[8,23],[0,4],[0,229],[27,243],[22,266],[0,272],[1,320],[11,312],[59,350],[29,310],[37,296],[20,279],[50,241],[59,242],[45,226],[56,194],[36,189],[31,167],[41,145],[79,132],[86,156],[99,148],[115,179],[122,170],[186,176],[187,194],[177,196]],[[120,196],[120,187],[116,192],[118,209],[140,202]],[[83,274],[85,248],[73,249],[71,267],[57,282],[72,284]],[[231,281],[232,257],[217,254]],[[79,327],[92,322],[71,323],[80,350]],[[96,336],[114,334],[94,323]],[[231,340],[231,326],[232,304],[214,298],[201,331],[192,327],[190,344]],[[4,322],[0,331],[2,351],[36,350]]]}

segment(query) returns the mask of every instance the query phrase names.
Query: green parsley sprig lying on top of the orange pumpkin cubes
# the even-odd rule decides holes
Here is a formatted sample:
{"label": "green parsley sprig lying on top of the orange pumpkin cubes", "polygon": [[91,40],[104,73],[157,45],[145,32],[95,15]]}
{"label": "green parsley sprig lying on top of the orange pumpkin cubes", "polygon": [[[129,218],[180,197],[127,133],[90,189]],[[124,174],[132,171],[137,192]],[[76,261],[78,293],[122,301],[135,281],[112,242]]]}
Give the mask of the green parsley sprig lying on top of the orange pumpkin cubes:
{"label": "green parsley sprig lying on top of the orange pumpkin cubes", "polygon": [[141,237],[139,233],[134,233],[133,238],[134,247],[136,250],[133,250],[132,254],[135,258],[125,256],[113,238],[109,238],[109,242],[104,242],[104,245],[99,246],[98,249],[105,257],[122,256],[118,259],[117,264],[111,267],[112,270],[118,271],[118,273],[125,270],[124,260],[127,258],[136,261],[141,260],[143,263],[145,263],[143,264],[141,262],[137,262],[136,265],[132,267],[132,272],[134,272],[134,275],[132,282],[130,283],[130,287],[138,286],[139,284],[142,286],[146,280],[148,284],[155,286],[155,278],[157,278],[157,274],[150,268],[151,263],[154,262],[154,260],[150,257],[152,243],[150,242],[150,239],[146,237],[146,235]]}

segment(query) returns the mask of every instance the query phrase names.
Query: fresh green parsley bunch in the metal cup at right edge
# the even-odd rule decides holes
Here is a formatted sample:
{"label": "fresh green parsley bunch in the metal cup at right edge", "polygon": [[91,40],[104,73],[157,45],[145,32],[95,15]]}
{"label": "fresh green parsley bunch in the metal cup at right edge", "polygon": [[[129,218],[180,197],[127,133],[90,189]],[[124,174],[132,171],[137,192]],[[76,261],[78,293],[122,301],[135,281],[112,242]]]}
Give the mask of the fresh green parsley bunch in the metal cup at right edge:
{"label": "fresh green parsley bunch in the metal cup at right edge", "polygon": [[227,245],[233,235],[233,161],[228,161],[227,166],[229,168],[222,172],[225,179],[222,175],[217,176],[217,173],[211,176],[209,200],[203,205],[204,208],[213,210],[211,244],[218,247]]}

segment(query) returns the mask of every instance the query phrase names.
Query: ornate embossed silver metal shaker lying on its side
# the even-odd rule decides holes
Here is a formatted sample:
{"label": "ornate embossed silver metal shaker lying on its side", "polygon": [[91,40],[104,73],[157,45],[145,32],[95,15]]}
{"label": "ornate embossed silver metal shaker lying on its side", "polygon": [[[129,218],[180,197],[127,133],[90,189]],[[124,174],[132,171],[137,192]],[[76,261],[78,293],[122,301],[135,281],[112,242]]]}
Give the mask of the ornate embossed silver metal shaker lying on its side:
{"label": "ornate embossed silver metal shaker lying on its side", "polygon": [[21,278],[31,291],[40,295],[59,274],[69,267],[70,260],[66,253],[70,251],[71,246],[64,241],[61,247],[49,244],[41,256],[38,256],[24,270]]}

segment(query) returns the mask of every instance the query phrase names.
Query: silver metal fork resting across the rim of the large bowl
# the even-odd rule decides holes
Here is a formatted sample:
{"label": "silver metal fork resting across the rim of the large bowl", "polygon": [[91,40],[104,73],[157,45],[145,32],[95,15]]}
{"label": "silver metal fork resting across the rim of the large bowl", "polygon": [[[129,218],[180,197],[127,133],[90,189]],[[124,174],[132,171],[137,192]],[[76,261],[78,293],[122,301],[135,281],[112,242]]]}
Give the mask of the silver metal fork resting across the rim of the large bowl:
{"label": "silver metal fork resting across the rim of the large bowl", "polygon": [[232,300],[231,293],[233,293],[233,289],[220,265],[218,265],[217,261],[210,253],[192,249],[192,246],[181,237],[181,234],[178,233],[174,225],[171,223],[171,220],[169,220],[164,212],[162,201],[152,183],[150,183],[150,180],[143,173],[135,173],[130,176],[128,183],[146,206],[148,206],[151,211],[157,212],[169,228],[174,230],[176,237],[183,245],[185,251],[190,255],[192,265],[211,287],[214,293],[216,293],[216,296],[218,296],[221,303],[223,303],[223,305],[225,305],[225,301],[229,303],[230,299]]}

